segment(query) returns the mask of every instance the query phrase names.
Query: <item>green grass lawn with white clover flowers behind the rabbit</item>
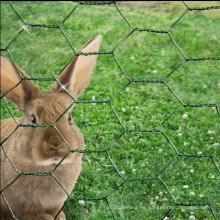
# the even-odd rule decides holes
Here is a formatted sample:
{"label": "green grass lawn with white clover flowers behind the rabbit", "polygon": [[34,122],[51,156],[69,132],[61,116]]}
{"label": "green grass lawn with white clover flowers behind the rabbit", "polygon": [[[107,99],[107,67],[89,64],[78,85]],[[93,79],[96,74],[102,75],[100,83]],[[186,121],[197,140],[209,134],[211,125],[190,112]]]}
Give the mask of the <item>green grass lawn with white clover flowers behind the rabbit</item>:
{"label": "green grass lawn with white clover flowers behind the rabbit", "polygon": [[[207,7],[219,2],[188,4]],[[60,25],[77,3],[13,5],[25,22]],[[8,2],[1,2],[1,6],[1,48],[6,48],[23,24]],[[182,2],[119,2],[118,7],[133,27],[156,30],[167,30],[186,9]],[[220,56],[219,11],[188,11],[170,30],[187,58]],[[132,28],[111,4],[80,5],[64,22],[63,30],[75,51],[102,34],[100,50],[105,52],[113,50]],[[54,28],[27,27],[9,51],[30,76],[41,78],[58,76],[74,56],[62,32]],[[2,54],[8,56],[6,51]],[[109,103],[78,103],[72,112],[85,137],[86,149],[108,149],[108,153],[84,154],[83,170],[71,194],[75,200],[64,208],[67,219],[112,219],[111,207],[116,219],[155,220],[162,219],[171,206],[167,219],[215,219],[212,212],[219,219],[219,60],[185,61],[178,67],[184,58],[167,33],[138,31],[122,42],[114,55],[116,60],[111,54],[99,55],[92,80],[79,97],[90,101],[114,96],[112,108]],[[126,77],[166,79],[167,85],[128,85]],[[42,90],[54,84],[35,83]],[[184,104],[217,104],[218,111],[215,107],[183,107],[169,88]],[[22,115],[14,104],[6,103],[14,116]],[[1,117],[11,117],[2,100]],[[124,129],[120,121],[125,129],[140,131],[125,132],[121,137]],[[161,132],[142,132],[150,129]],[[177,151],[183,155],[213,155],[218,169],[210,157],[176,157]],[[158,175],[162,181],[153,179]],[[106,200],[89,200],[106,196],[108,204]],[[80,205],[76,198],[84,198],[85,204]],[[212,212],[208,206],[177,207],[174,199],[181,204],[211,204]]]}

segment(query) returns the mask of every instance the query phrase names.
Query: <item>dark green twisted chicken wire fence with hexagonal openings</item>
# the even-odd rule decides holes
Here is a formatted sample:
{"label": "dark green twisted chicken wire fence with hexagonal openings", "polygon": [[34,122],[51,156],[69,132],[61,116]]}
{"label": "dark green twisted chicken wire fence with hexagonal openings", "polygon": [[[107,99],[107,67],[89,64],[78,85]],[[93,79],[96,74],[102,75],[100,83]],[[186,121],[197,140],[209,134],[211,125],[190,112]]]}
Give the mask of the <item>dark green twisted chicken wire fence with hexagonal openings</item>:
{"label": "dark green twisted chicken wire fence with hexagonal openings", "polygon": [[[70,146],[68,145],[68,143],[66,142],[66,140],[64,139],[64,137],[61,135],[61,133],[59,132],[59,130],[56,127],[56,123],[57,121],[72,107],[72,105],[69,106],[68,109],[66,109],[66,111],[60,115],[60,117],[56,120],[56,122],[54,124],[20,124],[16,118],[13,115],[13,112],[11,111],[10,107],[8,106],[8,103],[5,99],[5,96],[8,92],[10,92],[11,90],[13,90],[15,87],[17,87],[23,80],[35,80],[35,81],[54,81],[60,84],[59,80],[58,80],[58,76],[56,78],[47,78],[47,77],[35,77],[35,76],[31,76],[30,78],[24,77],[20,74],[19,70],[18,74],[21,77],[21,81],[14,86],[13,88],[11,88],[9,91],[7,91],[5,94],[2,94],[1,96],[1,101],[3,102],[3,104],[5,105],[5,107],[7,108],[8,112],[10,113],[11,117],[14,119],[14,121],[17,124],[17,127],[15,128],[15,130],[5,139],[1,141],[1,148],[2,151],[4,152],[5,157],[7,157],[7,159],[10,161],[11,165],[13,166],[13,168],[15,169],[15,171],[17,172],[17,177],[5,188],[1,188],[1,196],[4,199],[6,205],[8,206],[8,209],[10,210],[12,216],[14,219],[18,219],[18,216],[15,216],[13,214],[13,210],[10,208],[10,204],[7,202],[7,198],[4,196],[4,191],[9,188],[15,181],[17,181],[18,178],[20,178],[20,176],[22,175],[36,175],[36,176],[45,176],[45,175],[50,175],[52,176],[55,181],[57,181],[57,183],[60,185],[60,187],[63,188],[64,192],[67,194],[68,199],[67,201],[64,203],[63,207],[61,208],[61,210],[57,213],[55,219],[57,218],[57,216],[59,215],[59,213],[65,208],[65,206],[72,202],[74,204],[75,201],[103,201],[106,206],[108,207],[111,216],[113,219],[116,219],[117,216],[114,213],[114,209],[112,208],[111,202],[109,202],[109,198],[111,196],[117,196],[117,192],[120,191],[122,189],[122,187],[126,184],[130,184],[132,182],[144,182],[144,184],[149,184],[150,181],[158,181],[160,183],[160,185],[164,188],[164,190],[166,191],[166,194],[171,198],[173,205],[170,205],[167,207],[165,214],[163,214],[160,218],[161,219],[166,219],[167,216],[169,216],[169,214],[177,207],[206,207],[210,213],[211,216],[214,219],[218,219],[216,212],[213,211],[213,204],[210,201],[205,201],[203,203],[200,202],[179,202],[179,200],[173,195],[174,192],[172,192],[172,190],[170,190],[170,184],[166,183],[167,181],[165,181],[164,179],[166,179],[165,173],[169,171],[169,169],[177,169],[178,168],[178,164],[180,164],[181,162],[178,160],[181,160],[182,158],[186,158],[186,160],[191,160],[192,158],[198,158],[198,160],[204,160],[206,161],[206,163],[210,162],[213,164],[213,169],[216,170],[216,173],[219,174],[220,170],[219,167],[216,163],[216,152],[218,151],[219,147],[217,148],[217,150],[215,150],[212,153],[209,154],[188,154],[188,153],[181,153],[178,150],[178,147],[176,147],[176,145],[173,143],[172,138],[169,137],[169,135],[166,134],[166,132],[164,132],[163,130],[163,126],[164,124],[166,124],[166,122],[168,122],[169,120],[171,120],[171,118],[173,116],[175,116],[175,114],[178,111],[181,111],[182,109],[192,109],[192,108],[210,108],[210,109],[215,109],[215,111],[217,112],[217,115],[220,115],[219,112],[219,102],[218,103],[199,103],[199,104],[185,104],[184,101],[182,101],[182,99],[178,96],[178,94],[176,94],[174,92],[174,90],[172,89],[172,87],[170,87],[169,85],[169,78],[185,63],[187,62],[207,62],[209,60],[214,60],[216,62],[219,62],[220,57],[188,57],[184,54],[184,52],[182,51],[181,47],[178,45],[178,43],[175,41],[175,38],[172,36],[171,34],[171,30],[173,27],[175,27],[175,25],[177,25],[182,19],[184,19],[184,17],[190,12],[190,11],[200,11],[200,10],[213,10],[213,9],[220,9],[220,6],[211,6],[211,7],[189,7],[187,3],[183,2],[182,4],[185,6],[185,11],[181,14],[180,17],[178,17],[178,19],[176,19],[176,21],[167,29],[167,30],[156,30],[156,29],[147,29],[147,28],[137,28],[134,27],[130,22],[129,19],[126,19],[126,16],[121,12],[120,8],[118,7],[117,2],[115,1],[105,1],[105,2],[78,2],[75,7],[71,10],[71,12],[65,17],[65,19],[61,22],[60,25],[45,25],[45,24],[33,24],[33,23],[28,23],[26,22],[22,16],[17,12],[17,10],[15,9],[15,7],[13,6],[12,2],[9,2],[8,4],[10,4],[11,10],[13,10],[13,12],[16,14],[17,19],[20,19],[20,21],[23,23],[23,27],[21,28],[21,30],[10,40],[10,42],[7,44],[7,46],[5,48],[1,48],[1,51],[4,51],[8,54],[8,56],[10,57],[11,61],[13,62],[13,64],[15,65],[15,61],[13,60],[12,56],[11,56],[11,52],[10,52],[10,47],[11,45],[13,45],[13,43],[15,42],[15,40],[17,38],[20,37],[20,35],[22,34],[22,32],[24,32],[26,30],[27,27],[30,28],[45,28],[45,29],[58,29],[60,30],[60,32],[62,33],[62,35],[64,36],[64,39],[66,40],[66,42],[68,43],[69,47],[71,48],[71,50],[74,53],[74,56],[91,56],[91,55],[110,55],[113,57],[115,63],[117,64],[117,66],[119,67],[119,69],[121,70],[121,74],[124,75],[124,77],[126,78],[127,82],[125,83],[125,85],[123,86],[122,89],[120,89],[119,91],[117,91],[116,93],[114,93],[109,99],[107,100],[92,100],[92,101],[87,101],[87,100],[75,100],[74,97],[72,97],[72,95],[65,89],[66,93],[69,94],[69,96],[72,97],[72,99],[74,100],[72,105],[76,104],[105,104],[108,105],[111,109],[111,113],[114,115],[114,117],[116,118],[116,120],[118,121],[118,123],[121,126],[121,133],[118,135],[118,137],[106,148],[106,149],[100,149],[100,150],[73,150],[70,148]],[[109,51],[104,51],[104,52],[91,52],[91,53],[77,53],[76,50],[74,49],[74,45],[71,43],[71,41],[69,40],[69,38],[67,37],[65,30],[63,29],[63,25],[65,24],[65,22],[68,20],[68,18],[76,13],[76,10],[78,7],[80,7],[80,5],[85,5],[88,7],[93,7],[93,6],[97,6],[97,5],[113,5],[115,7],[115,9],[117,10],[117,13],[121,16],[121,19],[123,19],[127,25],[128,25],[128,29],[130,30],[129,33],[122,39],[120,40],[116,45],[114,45],[112,50]],[[163,79],[135,79],[129,76],[129,74],[127,73],[127,71],[124,70],[124,68],[121,66],[120,61],[118,60],[117,56],[115,55],[115,52],[117,50],[117,48],[123,44],[123,42],[127,41],[131,36],[133,36],[135,33],[139,33],[139,32],[150,32],[153,33],[155,35],[163,35],[166,37],[169,37],[170,40],[172,41],[172,44],[175,45],[175,47],[177,48],[179,54],[182,57],[181,62],[179,62],[178,65],[176,65],[175,68],[172,69],[172,71],[167,74],[167,76]],[[139,64],[141,65],[141,64]],[[67,66],[67,65],[66,65]],[[16,67],[16,65],[15,65]],[[216,82],[217,83],[217,82]],[[116,104],[114,104],[115,99],[117,99],[118,97],[120,97],[120,95],[125,92],[128,91],[129,88],[131,88],[133,85],[134,87],[138,87],[139,85],[147,85],[147,84],[152,84],[152,85],[159,85],[159,86],[163,86],[163,88],[165,88],[166,91],[168,91],[169,94],[172,94],[173,97],[175,97],[175,99],[177,100],[177,102],[179,103],[179,107],[175,108],[175,110],[172,110],[171,113],[169,114],[169,116],[166,116],[165,118],[163,118],[163,120],[161,121],[161,124],[158,128],[144,128],[145,126],[139,127],[139,128],[129,128],[129,126],[125,125],[126,121],[123,121],[121,118],[121,116],[119,116],[119,111],[117,110],[117,106]],[[122,97],[122,99],[124,99],[124,97]],[[135,99],[135,97],[133,98]],[[120,99],[119,99],[120,102]],[[124,109],[122,109],[122,111],[124,112]],[[131,115],[128,116],[129,118],[131,117]],[[185,117],[188,117],[187,115],[185,115]],[[134,119],[135,120],[135,119]],[[176,119],[178,120],[178,119]],[[217,122],[218,123],[218,122]],[[69,148],[69,153],[55,166],[55,168],[53,169],[53,171],[48,172],[48,173],[33,173],[33,172],[23,172],[21,170],[17,170],[16,166],[13,164],[13,161],[11,161],[10,157],[7,155],[5,148],[4,148],[4,143],[8,140],[8,138],[10,138],[13,133],[19,128],[19,127],[53,127],[56,129],[56,131],[60,134],[60,136],[62,137],[63,141],[66,143],[66,145]],[[111,153],[111,149],[113,148],[114,150],[114,146],[121,140],[122,137],[126,136],[127,134],[130,133],[134,133],[136,135],[139,134],[146,134],[148,135],[161,135],[161,137],[163,137],[167,143],[169,143],[169,145],[171,146],[171,148],[173,149],[173,155],[171,160],[169,160],[168,163],[166,163],[165,165],[163,164],[163,167],[159,169],[158,172],[156,172],[156,174],[152,177],[137,177],[137,178],[132,178],[132,177],[127,177],[123,175],[123,172],[121,172],[119,170],[119,166],[116,164],[117,161],[115,162],[115,160],[112,159],[112,153]],[[148,136],[149,137],[149,136]],[[145,137],[146,138],[146,137]],[[134,142],[136,143],[137,140],[135,140]],[[144,149],[142,149],[144,151]],[[86,153],[86,154],[104,154],[106,156],[106,158],[108,158],[110,166],[113,167],[114,171],[118,174],[118,178],[121,178],[121,182],[120,184],[115,187],[113,190],[111,190],[110,192],[108,192],[105,196],[102,197],[75,197],[74,196],[74,190],[73,190],[73,196],[72,194],[70,195],[67,190],[65,189],[65,187],[62,185],[62,183],[60,182],[59,179],[56,178],[55,176],[55,171],[57,169],[57,167],[62,163],[62,161],[71,153],[74,152],[80,152],[80,153]],[[117,150],[116,150],[117,153]],[[148,155],[149,156],[149,155]],[[147,158],[145,158],[147,159]],[[185,159],[184,159],[185,160]],[[159,162],[157,162],[159,163]],[[202,162],[201,162],[202,163]],[[197,164],[199,165],[199,164]],[[138,169],[138,167],[137,167]],[[179,168],[181,169],[181,168]],[[195,168],[196,169],[196,168]],[[134,171],[135,172],[135,171]],[[171,171],[169,171],[171,172]],[[179,170],[179,172],[181,172]],[[168,174],[166,174],[168,175]],[[148,175],[150,176],[150,175]],[[171,177],[169,177],[171,178]],[[217,187],[219,187],[219,178],[215,180],[215,184]],[[184,185],[185,186],[185,185]],[[183,186],[183,187],[184,187]],[[155,186],[154,186],[155,187]],[[185,186],[186,188],[187,186]],[[216,192],[217,193],[217,192]],[[130,195],[132,196],[132,195]],[[218,195],[216,194],[215,197],[217,198]],[[213,201],[216,200],[216,198],[213,199]],[[216,205],[216,204],[215,204]],[[150,205],[149,205],[150,207]],[[218,208],[217,208],[218,209]],[[148,210],[145,210],[146,212]],[[219,211],[217,211],[218,213]],[[67,215],[68,218],[68,215]]]}

